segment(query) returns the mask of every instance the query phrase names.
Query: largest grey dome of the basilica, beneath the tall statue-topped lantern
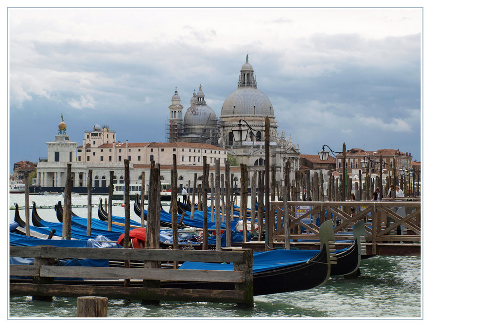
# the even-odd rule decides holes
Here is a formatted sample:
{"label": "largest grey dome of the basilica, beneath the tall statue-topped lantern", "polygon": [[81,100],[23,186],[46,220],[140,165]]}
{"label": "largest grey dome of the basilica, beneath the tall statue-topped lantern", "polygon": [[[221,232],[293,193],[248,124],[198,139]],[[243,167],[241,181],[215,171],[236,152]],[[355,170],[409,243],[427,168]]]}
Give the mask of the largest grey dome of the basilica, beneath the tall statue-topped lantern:
{"label": "largest grey dome of the basilica, beneath the tall statue-topped lantern", "polygon": [[238,88],[223,103],[220,118],[259,116],[275,118],[273,106],[267,96],[256,88]]}

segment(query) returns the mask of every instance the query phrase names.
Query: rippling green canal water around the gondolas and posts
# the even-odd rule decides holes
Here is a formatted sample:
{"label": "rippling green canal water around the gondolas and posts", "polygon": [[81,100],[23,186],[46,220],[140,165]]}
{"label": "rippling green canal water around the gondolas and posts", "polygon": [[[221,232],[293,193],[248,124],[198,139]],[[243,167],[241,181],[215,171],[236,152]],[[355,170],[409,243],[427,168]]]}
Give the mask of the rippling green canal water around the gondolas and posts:
{"label": "rippling green canal water around the gondolas and posts", "polygon": [[[100,196],[93,196],[98,203]],[[101,196],[105,198],[106,196]],[[24,205],[24,195],[10,195],[10,206]],[[62,196],[30,196],[39,206],[53,206]],[[119,201],[121,202],[121,201]],[[73,206],[86,205],[87,197],[72,198]],[[73,208],[87,217],[87,208]],[[56,221],[54,209],[37,209],[48,221]],[[133,211],[132,211],[133,212]],[[116,206],[114,215],[123,215]],[[135,217],[135,213],[132,213]],[[20,212],[24,218],[24,212]],[[93,209],[97,217],[97,209]],[[132,218],[133,218],[132,217]],[[10,210],[10,221],[14,211]],[[361,276],[330,278],[321,287],[282,294],[255,296],[255,307],[241,309],[233,304],[205,302],[160,302],[142,305],[140,301],[108,301],[110,318],[401,318],[421,319],[421,260],[413,256],[379,256],[362,261]],[[11,318],[73,318],[76,298],[54,297],[52,301],[34,301],[30,296],[10,296]]]}

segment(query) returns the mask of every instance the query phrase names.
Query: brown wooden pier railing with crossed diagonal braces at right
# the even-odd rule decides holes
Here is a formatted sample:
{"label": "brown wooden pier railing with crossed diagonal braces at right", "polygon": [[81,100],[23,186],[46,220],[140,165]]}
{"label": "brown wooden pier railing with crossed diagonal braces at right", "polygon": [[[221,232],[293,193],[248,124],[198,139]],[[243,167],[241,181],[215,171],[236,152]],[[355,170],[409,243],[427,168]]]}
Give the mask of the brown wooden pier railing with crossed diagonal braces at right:
{"label": "brown wooden pier railing with crossed diagonal braces at right", "polygon": [[[316,219],[320,217],[321,223],[325,220],[334,220],[336,240],[347,239],[348,236],[340,236],[339,233],[347,232],[354,223],[364,219],[366,241],[374,246],[374,254],[376,254],[376,245],[379,243],[420,242],[421,205],[419,201],[288,201],[287,205],[288,208],[284,208],[281,201],[271,202],[272,210],[276,213],[276,229],[269,231],[271,242],[285,240],[284,212],[288,212],[290,229],[288,237],[293,240],[317,241]],[[305,206],[311,209],[307,213],[299,214],[298,208]],[[351,208],[355,209],[354,213]],[[272,223],[270,226],[273,226]]]}

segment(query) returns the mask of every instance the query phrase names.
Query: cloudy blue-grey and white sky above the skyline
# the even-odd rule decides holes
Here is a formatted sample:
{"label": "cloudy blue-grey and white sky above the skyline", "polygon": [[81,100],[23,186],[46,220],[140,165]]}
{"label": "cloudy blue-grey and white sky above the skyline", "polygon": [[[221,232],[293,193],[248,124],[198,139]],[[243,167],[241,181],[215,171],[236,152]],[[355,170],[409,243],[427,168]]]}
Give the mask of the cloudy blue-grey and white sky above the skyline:
{"label": "cloudy blue-grey and white sky above the skyline", "polygon": [[[175,87],[221,114],[245,57],[301,153],[399,148],[421,160],[420,8],[10,8],[10,163],[109,125],[165,142]],[[21,128],[20,128],[21,127]]]}

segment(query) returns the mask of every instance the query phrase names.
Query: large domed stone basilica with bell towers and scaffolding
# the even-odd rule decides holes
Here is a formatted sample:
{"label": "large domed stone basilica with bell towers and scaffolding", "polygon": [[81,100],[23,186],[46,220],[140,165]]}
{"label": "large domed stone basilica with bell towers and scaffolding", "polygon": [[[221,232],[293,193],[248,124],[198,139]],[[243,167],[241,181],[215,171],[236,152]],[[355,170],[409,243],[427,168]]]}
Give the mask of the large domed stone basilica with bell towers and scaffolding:
{"label": "large domed stone basilica with bell towers and scaffolding", "polygon": [[[169,142],[206,143],[225,148],[227,154],[244,163],[251,170],[265,166],[264,130],[265,117],[270,120],[270,166],[275,166],[276,180],[283,179],[283,167],[288,161],[294,178],[299,166],[299,147],[287,140],[285,132],[278,133],[278,123],[270,99],[257,88],[253,66],[246,62],[240,70],[237,89],[229,94],[221,108],[219,118],[206,104],[202,85],[192,94],[190,107],[183,114],[177,90],[169,106],[167,138]],[[235,142],[233,131],[249,129],[245,140]]]}

